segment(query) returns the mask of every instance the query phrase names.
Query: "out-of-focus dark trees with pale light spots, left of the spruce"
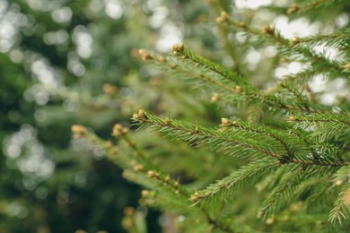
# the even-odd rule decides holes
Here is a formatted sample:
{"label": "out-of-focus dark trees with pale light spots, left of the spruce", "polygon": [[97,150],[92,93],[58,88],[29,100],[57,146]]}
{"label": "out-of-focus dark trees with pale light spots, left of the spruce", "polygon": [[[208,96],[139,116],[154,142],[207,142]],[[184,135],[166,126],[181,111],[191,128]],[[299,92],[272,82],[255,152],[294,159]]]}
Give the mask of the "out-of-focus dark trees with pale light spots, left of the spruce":
{"label": "out-of-focus dark trees with pale light spots, left of the spruce", "polygon": [[[110,138],[134,109],[161,106],[151,79],[158,71],[136,59],[137,49],[169,51],[185,35],[214,47],[209,13],[201,1],[0,1],[3,232],[123,231],[139,187],[104,151],[72,142],[71,125]],[[146,217],[151,232],[156,216]]]}

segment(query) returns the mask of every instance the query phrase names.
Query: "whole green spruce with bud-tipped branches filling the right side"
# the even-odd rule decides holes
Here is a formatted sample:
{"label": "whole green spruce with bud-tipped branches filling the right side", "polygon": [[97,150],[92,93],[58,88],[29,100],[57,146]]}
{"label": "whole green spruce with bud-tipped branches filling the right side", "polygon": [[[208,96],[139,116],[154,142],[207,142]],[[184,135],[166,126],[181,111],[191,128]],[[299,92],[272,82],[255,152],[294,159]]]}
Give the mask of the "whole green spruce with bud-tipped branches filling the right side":
{"label": "whole green spruce with bud-tipped branches filling the right side", "polygon": [[[140,204],[171,216],[179,232],[350,229],[350,30],[335,20],[347,17],[348,25],[347,1],[256,10],[316,22],[333,9],[325,16],[332,30],[322,22],[318,34],[291,39],[273,24],[255,27],[234,6],[210,4],[222,11],[213,23],[223,65],[186,41],[168,56],[138,50],[162,71],[153,82],[172,96],[162,105],[185,103],[189,113],[158,105],[136,111],[133,130],[116,124],[115,140],[81,125],[72,127],[74,137],[103,148],[124,177],[144,186]],[[258,56],[250,59],[265,53],[267,61],[244,61],[252,51]],[[297,73],[276,78],[278,67],[295,64]],[[137,211],[126,211],[125,228],[143,232]]]}

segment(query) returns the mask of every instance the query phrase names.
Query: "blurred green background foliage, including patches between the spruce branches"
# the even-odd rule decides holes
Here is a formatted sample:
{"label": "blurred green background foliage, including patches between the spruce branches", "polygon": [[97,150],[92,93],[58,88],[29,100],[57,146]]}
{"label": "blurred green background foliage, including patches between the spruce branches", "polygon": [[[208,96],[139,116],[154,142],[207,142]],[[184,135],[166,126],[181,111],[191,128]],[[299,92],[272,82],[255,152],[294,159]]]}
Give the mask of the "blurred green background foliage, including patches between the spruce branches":
{"label": "blurred green background foliage, including patches between the spruce branches", "polygon": [[[130,125],[129,118],[138,108],[203,125],[218,125],[220,117],[237,111],[225,105],[218,108],[213,103],[215,93],[193,91],[176,75],[168,77],[169,73],[144,63],[137,55],[141,47],[167,54],[172,44],[185,41],[198,54],[268,88],[271,71],[281,77],[291,67],[276,68],[280,57],[274,48],[240,32],[223,38],[215,18],[233,9],[237,20],[261,27],[278,17],[287,21],[289,3],[262,1],[265,8],[254,13],[255,6],[236,2],[0,0],[1,231],[124,232],[122,219],[133,210],[125,209],[131,206],[147,213],[149,232],[160,232],[165,217],[138,203],[140,187],[125,181],[104,151],[72,140],[71,125],[86,125],[113,140],[112,126]],[[314,26],[311,33],[335,30],[334,22],[338,28],[346,27],[349,11],[340,15],[338,11],[344,9],[328,12],[322,19],[315,14],[302,16],[303,23]],[[189,92],[197,95],[184,94]],[[223,157],[214,163],[214,152],[202,150],[207,153],[204,166],[193,169],[188,158],[199,153],[183,143],[147,132],[135,134],[134,139],[148,153],[160,155],[157,162],[164,170],[185,174],[182,183],[202,174],[201,169],[227,174],[226,169],[242,163]],[[206,181],[213,180],[208,176]],[[241,205],[254,203],[254,198],[248,194]]]}

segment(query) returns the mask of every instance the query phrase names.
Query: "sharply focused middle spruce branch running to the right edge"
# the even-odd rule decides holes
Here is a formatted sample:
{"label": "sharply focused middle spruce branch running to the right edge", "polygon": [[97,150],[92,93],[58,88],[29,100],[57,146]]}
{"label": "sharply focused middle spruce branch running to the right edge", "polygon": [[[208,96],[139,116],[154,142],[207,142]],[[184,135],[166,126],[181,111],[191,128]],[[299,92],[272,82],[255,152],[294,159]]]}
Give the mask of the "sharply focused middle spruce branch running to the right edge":
{"label": "sharply focused middle spruce branch running to the right edge", "polygon": [[[249,159],[268,156],[275,158],[281,164],[296,163],[304,166],[341,167],[350,163],[350,161],[336,160],[331,157],[312,160],[305,154],[296,156],[297,154],[294,151],[287,154],[280,153],[276,148],[276,144],[271,145],[261,140],[247,138],[247,134],[244,134],[245,131],[236,132],[235,134],[225,133],[224,131],[193,125],[169,117],[153,116],[144,112],[144,110],[139,110],[137,114],[133,115],[132,119],[136,125],[140,125],[139,129],[152,128],[154,131],[172,136],[175,140],[188,142],[192,146],[208,145],[211,150],[236,157],[247,157],[247,151],[250,151]],[[292,154],[293,156],[291,156]]]}

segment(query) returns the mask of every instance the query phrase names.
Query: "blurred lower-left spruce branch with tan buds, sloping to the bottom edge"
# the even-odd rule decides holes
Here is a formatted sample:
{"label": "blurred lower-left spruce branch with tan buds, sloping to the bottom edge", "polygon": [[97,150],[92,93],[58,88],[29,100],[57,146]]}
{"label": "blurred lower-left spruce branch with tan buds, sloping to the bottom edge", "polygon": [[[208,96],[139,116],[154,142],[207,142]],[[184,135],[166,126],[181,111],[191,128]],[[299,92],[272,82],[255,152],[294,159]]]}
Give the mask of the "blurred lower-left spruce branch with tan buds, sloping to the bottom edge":
{"label": "blurred lower-left spruce branch with tan buds, sloping to the bottom edge", "polygon": [[[139,111],[138,114],[145,116],[142,111]],[[188,189],[179,184],[179,181],[174,180],[170,175],[164,174],[160,169],[147,169],[147,167],[150,165],[150,161],[144,157],[134,142],[129,141],[126,136],[126,128],[117,124],[113,128],[112,134],[115,136],[122,136],[124,140],[127,140],[127,144],[133,149],[133,151],[135,151],[136,158],[139,160],[138,162],[135,162],[135,160],[130,160],[131,158],[126,158],[128,155],[118,153],[118,150],[116,150],[116,147],[112,146],[111,142],[104,142],[97,135],[87,131],[82,125],[73,125],[72,131],[75,139],[83,137],[89,142],[99,145],[101,148],[106,150],[106,152],[109,154],[109,160],[118,163],[121,168],[124,168],[123,177],[126,177],[128,180],[136,184],[150,188],[155,192],[159,192],[164,198],[166,196],[166,198],[163,198],[162,201],[165,200],[165,202],[168,203],[167,208],[169,208],[169,205],[171,205],[174,208],[173,211],[194,211],[197,212],[195,213],[196,215],[198,215],[198,213],[203,214],[204,218],[207,220],[207,223],[212,225],[214,229],[220,229],[223,232],[233,232],[233,230],[226,224],[223,224],[223,222],[211,217],[206,209],[200,206],[196,207],[195,209],[191,208]],[[150,167],[156,168],[156,166],[153,164]],[[150,193],[148,191],[143,192],[143,195],[148,198],[155,199],[159,197],[155,193]],[[159,203],[163,203],[162,201]],[[164,210],[166,210],[166,208],[164,208]]]}

